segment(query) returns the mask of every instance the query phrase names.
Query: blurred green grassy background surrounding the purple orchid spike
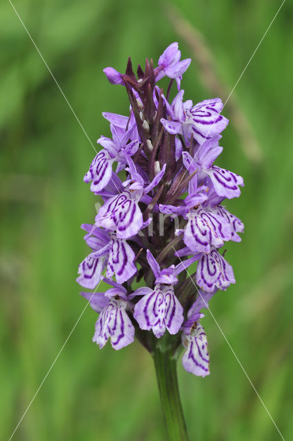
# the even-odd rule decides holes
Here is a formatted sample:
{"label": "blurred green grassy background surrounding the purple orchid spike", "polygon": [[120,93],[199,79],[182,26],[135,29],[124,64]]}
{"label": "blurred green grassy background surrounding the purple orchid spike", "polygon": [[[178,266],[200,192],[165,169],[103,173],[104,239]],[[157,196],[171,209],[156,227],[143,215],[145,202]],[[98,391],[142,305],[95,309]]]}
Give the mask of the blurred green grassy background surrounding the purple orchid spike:
{"label": "blurred green grassy background surrounding the purple orchid spike", "polygon": [[[179,41],[193,59],[185,98],[225,101],[280,4],[14,2],[94,145],[109,134],[101,112],[128,111],[105,66],[123,71],[128,55],[135,65],[157,61]],[[286,1],[223,111],[230,125],[217,163],[245,179],[228,203],[245,234],[227,247],[236,285],[211,303],[285,440],[293,439],[292,19]],[[92,146],[6,0],[0,36],[0,438],[8,440],[85,306],[74,280],[88,251],[79,226],[92,222],[95,198],[83,183]],[[100,351],[96,316],[83,314],[14,440],[165,440],[149,354],[137,342]],[[179,363],[191,440],[281,439],[208,312],[203,324],[211,375],[196,378]]]}

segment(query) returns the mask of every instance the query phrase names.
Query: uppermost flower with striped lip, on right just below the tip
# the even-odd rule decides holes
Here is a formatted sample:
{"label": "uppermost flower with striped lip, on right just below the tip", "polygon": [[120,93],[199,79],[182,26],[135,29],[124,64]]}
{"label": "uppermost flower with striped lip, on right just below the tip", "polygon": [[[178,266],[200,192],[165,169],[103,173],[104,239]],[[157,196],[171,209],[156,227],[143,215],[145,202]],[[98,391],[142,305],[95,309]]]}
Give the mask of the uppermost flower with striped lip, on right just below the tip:
{"label": "uppermost flower with striped lip, on right just below the tip", "polygon": [[221,99],[208,99],[192,104],[191,100],[183,103],[184,90],[176,94],[170,105],[165,99],[168,115],[171,119],[161,119],[165,130],[170,134],[182,134],[188,144],[190,137],[198,143],[223,132],[229,121],[220,115],[223,108]]}

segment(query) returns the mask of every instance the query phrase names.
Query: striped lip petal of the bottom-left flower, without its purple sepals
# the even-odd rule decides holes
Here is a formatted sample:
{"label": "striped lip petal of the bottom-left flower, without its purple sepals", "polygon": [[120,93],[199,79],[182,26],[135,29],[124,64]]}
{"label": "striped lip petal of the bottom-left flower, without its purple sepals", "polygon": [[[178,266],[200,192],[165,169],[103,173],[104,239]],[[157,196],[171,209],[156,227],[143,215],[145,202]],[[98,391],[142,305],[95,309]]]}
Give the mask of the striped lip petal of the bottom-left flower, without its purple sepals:
{"label": "striped lip petal of the bottom-left flower, without its purple sepals", "polygon": [[108,338],[111,345],[118,350],[134,341],[134,326],[125,311],[127,302],[123,298],[110,298],[108,305],[101,311],[95,325],[93,342],[100,349],[105,346]]}

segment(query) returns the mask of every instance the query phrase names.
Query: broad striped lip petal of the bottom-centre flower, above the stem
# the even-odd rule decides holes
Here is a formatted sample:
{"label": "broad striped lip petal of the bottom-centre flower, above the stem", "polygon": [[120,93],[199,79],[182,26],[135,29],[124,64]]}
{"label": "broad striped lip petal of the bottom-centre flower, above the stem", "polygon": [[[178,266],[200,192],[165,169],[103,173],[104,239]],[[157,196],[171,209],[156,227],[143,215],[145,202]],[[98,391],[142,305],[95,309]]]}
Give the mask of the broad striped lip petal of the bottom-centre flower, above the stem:
{"label": "broad striped lip petal of the bottom-centre flower, above the stem", "polygon": [[156,285],[134,307],[134,318],[141,329],[154,332],[160,338],[168,329],[176,334],[183,322],[183,307],[174,294],[172,286]]}

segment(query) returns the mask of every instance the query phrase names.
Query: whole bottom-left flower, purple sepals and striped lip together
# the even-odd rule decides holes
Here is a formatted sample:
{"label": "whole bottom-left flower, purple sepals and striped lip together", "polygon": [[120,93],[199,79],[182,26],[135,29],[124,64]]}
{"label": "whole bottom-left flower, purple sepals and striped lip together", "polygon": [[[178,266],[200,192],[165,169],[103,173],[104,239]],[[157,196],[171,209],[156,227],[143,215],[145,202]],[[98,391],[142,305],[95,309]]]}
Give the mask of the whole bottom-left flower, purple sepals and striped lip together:
{"label": "whole bottom-left flower, purple sepals and striped lip together", "polygon": [[[112,284],[113,285],[113,284]],[[93,342],[102,349],[110,338],[111,345],[118,350],[134,341],[134,326],[126,308],[128,298],[126,289],[115,284],[105,293],[81,292],[81,296],[90,301],[90,306],[99,313],[95,325]]]}

